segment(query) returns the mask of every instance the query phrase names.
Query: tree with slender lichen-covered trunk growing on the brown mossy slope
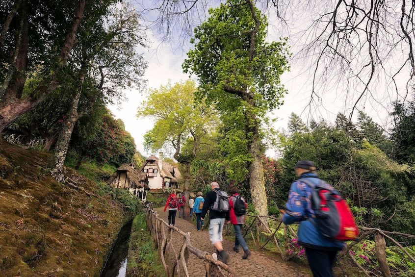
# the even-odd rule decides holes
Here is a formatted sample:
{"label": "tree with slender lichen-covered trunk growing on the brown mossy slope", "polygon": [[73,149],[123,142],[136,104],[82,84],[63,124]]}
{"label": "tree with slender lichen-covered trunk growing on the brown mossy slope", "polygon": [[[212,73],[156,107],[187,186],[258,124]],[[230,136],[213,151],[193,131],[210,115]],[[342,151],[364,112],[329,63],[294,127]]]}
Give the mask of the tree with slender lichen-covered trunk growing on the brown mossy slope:
{"label": "tree with slender lichen-covered trunk growing on the brown mossy slope", "polygon": [[[88,15],[90,18],[79,32],[88,39],[81,40],[75,49],[71,68],[70,76],[75,76],[72,101],[49,162],[51,175],[58,181],[63,180],[63,163],[78,119],[91,111],[99,97],[103,101],[120,98],[120,89],[140,87],[147,67],[142,55],[136,52],[137,46],[145,46],[145,37],[139,30],[138,14],[130,5],[110,11],[104,7]],[[106,82],[110,83],[109,88],[104,87]],[[82,94],[84,101],[80,101]]]}

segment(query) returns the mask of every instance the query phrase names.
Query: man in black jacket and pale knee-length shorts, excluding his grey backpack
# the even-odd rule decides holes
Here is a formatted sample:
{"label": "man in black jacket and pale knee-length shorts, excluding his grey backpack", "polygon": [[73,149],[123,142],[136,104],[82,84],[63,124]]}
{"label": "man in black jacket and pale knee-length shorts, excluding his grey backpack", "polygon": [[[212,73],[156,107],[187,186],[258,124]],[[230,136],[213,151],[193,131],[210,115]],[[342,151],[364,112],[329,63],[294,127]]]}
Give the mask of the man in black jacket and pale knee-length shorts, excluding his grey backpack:
{"label": "man in black jacket and pale knee-length shorts, excluding his grey backpack", "polygon": [[[209,211],[209,239],[212,245],[216,248],[216,254],[218,258],[222,259],[222,262],[228,264],[229,254],[223,250],[222,246],[222,232],[225,224],[226,212],[219,212],[213,209],[213,204],[216,201],[217,192],[221,191],[217,182],[210,183],[211,191],[208,192],[203,204],[201,220],[205,220],[205,216]],[[216,191],[216,192],[215,192]]]}

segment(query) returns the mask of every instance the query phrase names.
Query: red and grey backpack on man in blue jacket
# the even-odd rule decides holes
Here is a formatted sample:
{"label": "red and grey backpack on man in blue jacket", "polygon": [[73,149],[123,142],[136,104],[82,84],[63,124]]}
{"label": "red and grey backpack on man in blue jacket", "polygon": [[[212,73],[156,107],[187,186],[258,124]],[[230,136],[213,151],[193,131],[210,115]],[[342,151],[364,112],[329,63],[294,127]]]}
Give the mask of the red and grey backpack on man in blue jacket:
{"label": "red and grey backpack on man in blue jacket", "polygon": [[338,241],[356,240],[359,229],[347,202],[325,181],[315,185],[308,178],[300,178],[311,187],[311,208],[315,220],[310,219],[325,237]]}

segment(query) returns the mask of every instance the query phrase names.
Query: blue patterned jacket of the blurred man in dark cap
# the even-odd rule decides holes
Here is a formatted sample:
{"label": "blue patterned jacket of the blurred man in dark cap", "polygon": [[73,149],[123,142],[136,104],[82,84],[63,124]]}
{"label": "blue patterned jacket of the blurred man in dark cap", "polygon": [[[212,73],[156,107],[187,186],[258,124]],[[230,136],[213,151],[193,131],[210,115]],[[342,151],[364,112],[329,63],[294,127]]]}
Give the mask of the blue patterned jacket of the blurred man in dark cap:
{"label": "blue patterned jacket of the blurred man in dark cap", "polygon": [[[305,173],[301,178],[310,178],[315,184],[319,183],[316,174]],[[330,240],[319,233],[314,224],[307,220],[314,214],[311,209],[311,188],[304,182],[295,181],[291,184],[288,201],[285,203],[286,213],[283,215],[285,224],[300,222],[298,228],[298,242],[304,247],[319,250],[340,250],[344,243]]]}

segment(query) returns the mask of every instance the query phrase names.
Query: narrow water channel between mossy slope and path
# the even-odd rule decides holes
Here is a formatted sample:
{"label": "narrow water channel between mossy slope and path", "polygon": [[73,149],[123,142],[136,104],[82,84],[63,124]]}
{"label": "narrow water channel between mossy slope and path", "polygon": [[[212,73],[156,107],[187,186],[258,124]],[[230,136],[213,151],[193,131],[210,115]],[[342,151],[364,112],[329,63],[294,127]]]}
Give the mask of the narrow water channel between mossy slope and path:
{"label": "narrow water channel between mossy slope and path", "polygon": [[121,228],[100,277],[125,277],[127,271],[128,243],[132,222]]}

